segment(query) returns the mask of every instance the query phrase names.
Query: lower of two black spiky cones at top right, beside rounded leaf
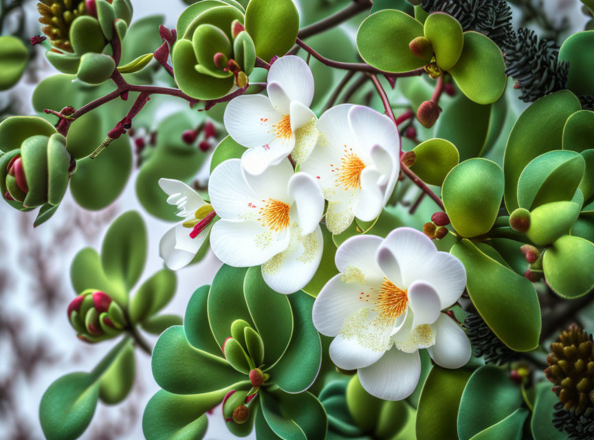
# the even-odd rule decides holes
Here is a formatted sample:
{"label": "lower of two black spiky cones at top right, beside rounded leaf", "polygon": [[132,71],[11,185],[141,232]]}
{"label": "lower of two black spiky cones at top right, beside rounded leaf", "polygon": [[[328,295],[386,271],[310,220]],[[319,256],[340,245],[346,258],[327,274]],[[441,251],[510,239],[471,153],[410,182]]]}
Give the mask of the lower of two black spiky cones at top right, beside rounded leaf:
{"label": "lower of two black spiky cones at top right, beside rounded leaf", "polygon": [[569,63],[559,63],[553,41],[538,39],[533,30],[520,29],[504,47],[505,74],[521,89],[520,99],[534,102],[553,91],[566,88]]}

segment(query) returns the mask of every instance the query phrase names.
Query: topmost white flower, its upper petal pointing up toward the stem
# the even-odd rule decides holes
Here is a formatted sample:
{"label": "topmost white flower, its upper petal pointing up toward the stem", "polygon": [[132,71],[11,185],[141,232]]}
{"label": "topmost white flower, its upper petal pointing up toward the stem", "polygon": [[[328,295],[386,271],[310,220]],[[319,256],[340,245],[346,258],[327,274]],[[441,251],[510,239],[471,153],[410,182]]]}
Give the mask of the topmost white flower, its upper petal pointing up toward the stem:
{"label": "topmost white flower, its upper petal pointing up toward the stem", "polygon": [[303,59],[278,58],[268,72],[268,97],[242,95],[225,109],[225,128],[248,148],[241,165],[259,175],[289,154],[303,162],[318,140],[316,114],[309,109],[314,98],[314,76]]}

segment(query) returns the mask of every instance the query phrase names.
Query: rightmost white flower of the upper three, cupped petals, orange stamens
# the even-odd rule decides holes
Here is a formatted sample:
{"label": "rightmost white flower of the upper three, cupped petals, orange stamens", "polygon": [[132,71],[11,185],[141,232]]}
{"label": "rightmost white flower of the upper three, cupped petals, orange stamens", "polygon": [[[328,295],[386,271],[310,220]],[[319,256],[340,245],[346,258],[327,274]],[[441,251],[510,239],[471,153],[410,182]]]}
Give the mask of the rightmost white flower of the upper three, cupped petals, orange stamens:
{"label": "rightmost white flower of the upper three, cupped petals, orange stamens", "polygon": [[386,115],[353,104],[326,111],[318,131],[300,170],[318,179],[329,202],[327,228],[340,234],[354,217],[371,221],[386,206],[400,172],[400,136]]}

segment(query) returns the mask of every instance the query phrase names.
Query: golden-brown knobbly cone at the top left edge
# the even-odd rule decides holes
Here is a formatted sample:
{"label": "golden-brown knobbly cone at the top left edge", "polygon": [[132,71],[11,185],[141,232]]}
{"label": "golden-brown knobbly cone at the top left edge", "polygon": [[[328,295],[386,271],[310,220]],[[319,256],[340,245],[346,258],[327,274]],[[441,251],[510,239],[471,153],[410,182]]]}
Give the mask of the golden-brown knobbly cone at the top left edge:
{"label": "golden-brown knobbly cone at the top left edge", "polygon": [[69,41],[70,25],[76,17],[87,14],[85,0],[41,0],[37,3],[41,14],[39,23],[52,42],[52,46],[65,52],[72,52]]}

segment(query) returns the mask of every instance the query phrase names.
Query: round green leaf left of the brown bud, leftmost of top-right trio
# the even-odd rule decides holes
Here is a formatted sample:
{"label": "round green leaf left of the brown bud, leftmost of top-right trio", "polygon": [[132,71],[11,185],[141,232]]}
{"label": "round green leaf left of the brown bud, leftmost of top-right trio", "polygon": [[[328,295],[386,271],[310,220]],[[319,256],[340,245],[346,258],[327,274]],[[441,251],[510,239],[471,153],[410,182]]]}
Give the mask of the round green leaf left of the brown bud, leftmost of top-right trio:
{"label": "round green leaf left of the brown bud, leftmost of top-right trio", "polygon": [[410,52],[408,43],[423,36],[423,25],[399,10],[382,10],[364,19],[357,32],[363,60],[386,72],[408,72],[426,62]]}

